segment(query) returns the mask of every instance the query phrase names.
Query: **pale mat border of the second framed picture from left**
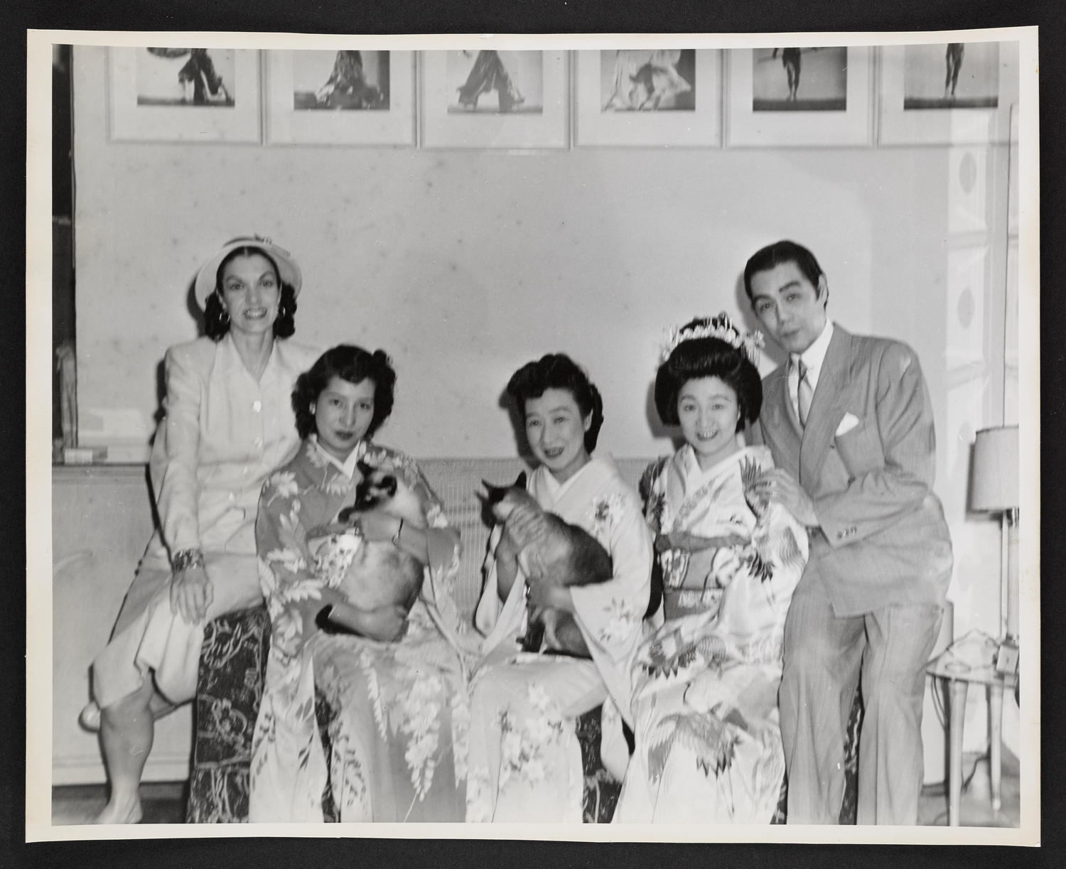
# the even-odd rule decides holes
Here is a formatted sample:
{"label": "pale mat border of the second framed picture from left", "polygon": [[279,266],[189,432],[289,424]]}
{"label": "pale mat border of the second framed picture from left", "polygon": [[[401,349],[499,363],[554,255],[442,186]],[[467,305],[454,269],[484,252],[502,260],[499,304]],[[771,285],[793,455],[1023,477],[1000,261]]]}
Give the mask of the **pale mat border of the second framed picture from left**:
{"label": "pale mat border of the second framed picture from left", "polygon": [[417,126],[415,51],[389,49],[389,108],[385,111],[310,112],[287,108],[292,101],[293,52],[336,50],[275,48],[262,51],[265,144],[414,147]]}

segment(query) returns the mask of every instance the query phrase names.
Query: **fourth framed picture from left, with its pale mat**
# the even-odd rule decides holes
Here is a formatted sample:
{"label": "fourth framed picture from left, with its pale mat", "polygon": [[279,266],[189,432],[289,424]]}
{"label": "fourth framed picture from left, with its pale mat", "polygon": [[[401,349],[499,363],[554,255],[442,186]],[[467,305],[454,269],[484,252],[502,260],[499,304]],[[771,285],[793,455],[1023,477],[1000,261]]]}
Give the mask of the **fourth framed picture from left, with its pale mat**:
{"label": "fourth framed picture from left, with its pale mat", "polygon": [[722,144],[717,49],[578,51],[578,145]]}

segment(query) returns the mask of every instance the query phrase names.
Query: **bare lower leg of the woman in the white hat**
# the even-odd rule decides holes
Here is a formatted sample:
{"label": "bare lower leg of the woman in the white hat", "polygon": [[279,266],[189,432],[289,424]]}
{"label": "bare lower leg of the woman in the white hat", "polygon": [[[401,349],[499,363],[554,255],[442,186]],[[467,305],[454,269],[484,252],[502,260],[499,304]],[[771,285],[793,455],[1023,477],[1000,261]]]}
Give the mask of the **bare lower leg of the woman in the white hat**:
{"label": "bare lower leg of the woman in the white hat", "polygon": [[111,799],[98,824],[135,824],[141,820],[141,773],[155,737],[152,679],[100,712],[100,744],[111,781]]}

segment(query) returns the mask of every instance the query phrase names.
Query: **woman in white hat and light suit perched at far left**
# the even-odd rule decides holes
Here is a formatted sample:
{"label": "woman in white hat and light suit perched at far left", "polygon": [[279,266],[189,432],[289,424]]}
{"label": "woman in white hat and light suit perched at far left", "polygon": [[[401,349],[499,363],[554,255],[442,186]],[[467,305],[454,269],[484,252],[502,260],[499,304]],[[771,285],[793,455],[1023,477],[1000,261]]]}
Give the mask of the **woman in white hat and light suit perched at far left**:
{"label": "woman in white hat and light suit perched at far left", "polygon": [[156,532],[93,662],[111,799],[99,823],[141,819],[154,720],[190,701],[205,624],[261,598],[254,525],[268,474],[296,450],[291,396],[318,354],[292,341],[300,268],[269,239],[227,242],[196,275],[206,335],[166,352],[151,453]]}

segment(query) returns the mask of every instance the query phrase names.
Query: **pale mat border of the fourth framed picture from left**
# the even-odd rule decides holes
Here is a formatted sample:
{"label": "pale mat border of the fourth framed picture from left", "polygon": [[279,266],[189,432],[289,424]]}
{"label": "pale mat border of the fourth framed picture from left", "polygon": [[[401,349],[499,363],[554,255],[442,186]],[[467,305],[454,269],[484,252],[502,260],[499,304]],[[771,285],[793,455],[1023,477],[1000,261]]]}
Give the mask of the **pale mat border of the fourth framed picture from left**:
{"label": "pale mat border of the fourth framed picture from left", "polygon": [[601,112],[600,53],[575,51],[574,144],[633,147],[722,147],[723,49],[696,48],[693,112]]}

